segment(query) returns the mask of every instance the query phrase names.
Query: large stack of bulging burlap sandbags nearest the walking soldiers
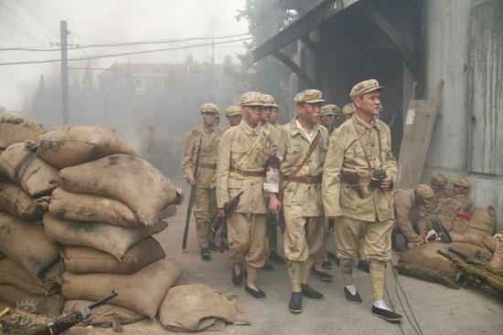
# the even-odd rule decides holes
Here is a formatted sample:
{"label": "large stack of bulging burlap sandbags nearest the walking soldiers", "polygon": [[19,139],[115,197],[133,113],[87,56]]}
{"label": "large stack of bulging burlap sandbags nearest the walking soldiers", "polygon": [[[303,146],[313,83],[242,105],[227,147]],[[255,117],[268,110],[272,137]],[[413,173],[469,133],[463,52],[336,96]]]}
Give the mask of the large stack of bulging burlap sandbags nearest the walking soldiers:
{"label": "large stack of bulging burlap sandbags nearest the walking soldiers", "polygon": [[154,318],[183,274],[153,237],[166,229],[158,215],[179,201],[179,188],[106,129],[48,131],[34,147],[62,168],[43,222],[49,239],[62,246],[65,310],[114,290],[118,296],[87,324],[118,330],[123,323]]}

